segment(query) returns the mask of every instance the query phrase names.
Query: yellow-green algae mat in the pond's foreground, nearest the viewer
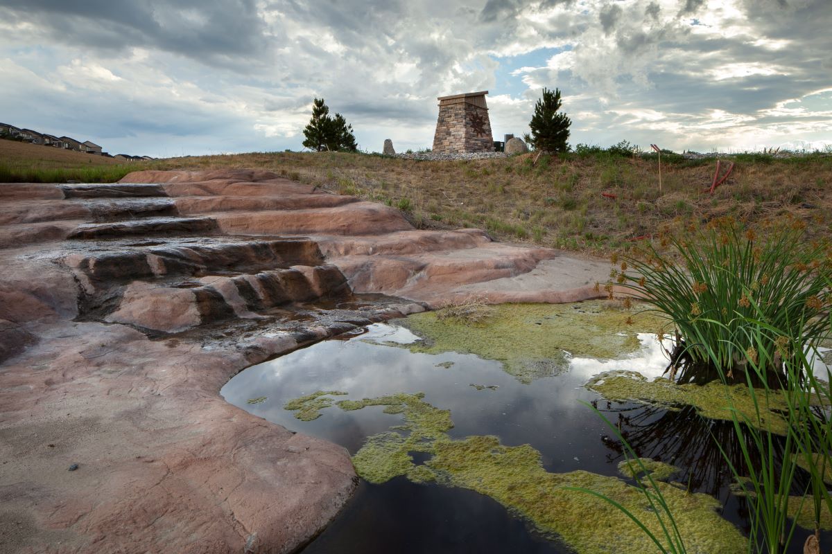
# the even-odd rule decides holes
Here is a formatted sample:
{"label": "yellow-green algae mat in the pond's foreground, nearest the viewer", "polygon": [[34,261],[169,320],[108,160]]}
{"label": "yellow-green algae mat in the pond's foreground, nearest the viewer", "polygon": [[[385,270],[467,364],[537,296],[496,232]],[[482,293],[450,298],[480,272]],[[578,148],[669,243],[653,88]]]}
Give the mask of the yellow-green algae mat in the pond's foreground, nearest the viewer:
{"label": "yellow-green algae mat in the pond's foreground, nearest the viewer", "polygon": [[[321,393],[316,398],[332,400],[324,396],[328,394],[332,393]],[[404,424],[370,436],[355,453],[353,463],[361,478],[381,484],[404,476],[414,483],[437,482],[476,491],[531,522],[539,532],[557,535],[578,554],[641,554],[655,548],[616,507],[575,490],[585,488],[603,494],[637,514],[651,532],[661,536],[651,505],[636,487],[621,478],[586,471],[547,472],[541,454],[528,444],[505,446],[490,435],[451,439],[450,411],[438,409],[423,398],[417,393],[335,402],[347,411],[384,406],[385,414],[399,414],[404,419]],[[306,404],[308,400],[304,399],[286,405],[303,418]],[[417,464],[413,453],[427,453],[430,458]],[[689,493],[678,483],[661,481],[676,473],[673,466],[653,460],[642,462],[675,514],[687,552],[745,552],[745,538],[716,512],[721,503],[706,494]],[[638,473],[634,462],[623,463],[620,470],[629,477]]]}

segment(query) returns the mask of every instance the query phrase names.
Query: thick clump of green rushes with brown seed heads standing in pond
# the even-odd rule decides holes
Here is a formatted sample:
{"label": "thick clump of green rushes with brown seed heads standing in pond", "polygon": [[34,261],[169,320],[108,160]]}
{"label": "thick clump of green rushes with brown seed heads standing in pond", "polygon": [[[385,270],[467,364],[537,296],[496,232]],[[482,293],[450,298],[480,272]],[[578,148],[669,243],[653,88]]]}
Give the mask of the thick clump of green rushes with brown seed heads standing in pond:
{"label": "thick clump of green rushes with brown seed heads standing in pond", "polygon": [[[750,361],[769,376],[795,355],[787,342],[817,345],[830,312],[832,257],[793,218],[764,224],[760,237],[731,218],[668,233],[627,259],[617,282],[644,297],[676,327],[671,374],[679,365],[716,366],[721,375]],[[629,272],[627,270],[630,270]],[[767,329],[779,329],[772,336]]]}

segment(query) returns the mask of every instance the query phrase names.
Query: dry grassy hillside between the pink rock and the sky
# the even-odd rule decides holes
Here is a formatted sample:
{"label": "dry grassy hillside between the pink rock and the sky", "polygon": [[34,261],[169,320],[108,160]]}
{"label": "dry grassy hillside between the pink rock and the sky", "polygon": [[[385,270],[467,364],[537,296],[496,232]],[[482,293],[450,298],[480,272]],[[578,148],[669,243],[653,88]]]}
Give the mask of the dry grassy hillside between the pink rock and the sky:
{"label": "dry grassy hillside between the pink rock and the sky", "polygon": [[[0,141],[0,149],[6,142]],[[9,144],[31,147],[35,155],[45,150]],[[135,169],[270,169],[334,193],[400,208],[418,228],[484,228],[502,240],[596,255],[622,250],[632,239],[686,218],[731,215],[754,223],[790,213],[809,223],[811,233],[832,234],[830,154],[731,156],[735,169],[712,195],[703,190],[711,186],[716,161],[681,156],[663,156],[660,195],[655,158],[604,152],[541,156],[537,164],[532,164],[535,154],[466,161],[344,153],[220,154],[111,164],[84,179],[72,173],[77,168],[49,171],[59,166],[55,160],[6,150],[0,154],[5,160],[0,173],[11,168],[0,181],[115,181]],[[90,166],[102,161],[88,161],[92,156],[87,154],[77,158]],[[39,178],[41,169],[44,179]]]}

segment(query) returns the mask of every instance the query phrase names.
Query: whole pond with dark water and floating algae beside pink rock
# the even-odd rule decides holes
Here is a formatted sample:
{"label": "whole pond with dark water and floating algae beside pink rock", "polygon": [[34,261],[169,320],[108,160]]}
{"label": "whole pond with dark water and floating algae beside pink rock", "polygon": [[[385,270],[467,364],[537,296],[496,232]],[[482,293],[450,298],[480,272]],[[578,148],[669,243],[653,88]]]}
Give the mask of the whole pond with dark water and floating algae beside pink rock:
{"label": "whole pond with dark water and floating algae beside pink rock", "polygon": [[[475,325],[418,314],[252,366],[221,394],[354,455],[365,479],[305,553],[649,552],[638,532],[616,528],[614,508],[569,489],[641,502],[620,471],[621,444],[582,401],[640,456],[678,466],[671,480],[685,484],[665,491],[691,516],[688,552],[737,552],[747,506],[711,439],[735,441],[730,423],[586,387],[603,372],[652,380],[665,370],[663,345],[646,332],[656,321],[631,313],[602,302],[500,306]],[[711,544],[714,535],[725,540]]]}

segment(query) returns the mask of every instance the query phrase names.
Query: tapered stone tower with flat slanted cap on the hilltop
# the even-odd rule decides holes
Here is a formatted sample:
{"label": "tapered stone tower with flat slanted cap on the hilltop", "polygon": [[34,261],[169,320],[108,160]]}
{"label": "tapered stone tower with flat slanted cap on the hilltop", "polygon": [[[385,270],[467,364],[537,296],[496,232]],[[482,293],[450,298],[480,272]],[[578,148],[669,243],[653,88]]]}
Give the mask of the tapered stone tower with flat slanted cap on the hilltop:
{"label": "tapered stone tower with flat slanted cap on the hilltop", "polygon": [[488,91],[439,96],[439,117],[433,135],[433,152],[493,152],[491,121],[488,120]]}

